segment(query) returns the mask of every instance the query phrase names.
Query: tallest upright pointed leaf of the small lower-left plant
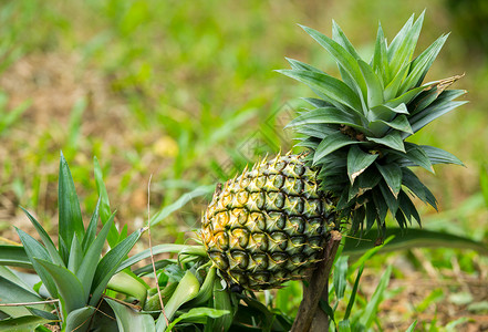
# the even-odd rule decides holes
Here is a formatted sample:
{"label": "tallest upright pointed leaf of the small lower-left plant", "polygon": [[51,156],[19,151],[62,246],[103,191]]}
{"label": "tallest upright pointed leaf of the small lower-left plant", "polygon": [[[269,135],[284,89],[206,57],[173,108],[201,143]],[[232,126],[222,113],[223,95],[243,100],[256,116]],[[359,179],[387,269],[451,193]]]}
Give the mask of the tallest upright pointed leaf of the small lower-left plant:
{"label": "tallest upright pointed leaf of the small lower-left plant", "polygon": [[[58,206],[59,206],[59,235],[63,239],[64,245],[70,248],[73,236],[76,234],[79,239],[83,239],[85,229],[80,209],[76,190],[74,188],[73,177],[63,153],[60,159],[60,178],[58,188]],[[68,249],[66,248],[66,249]],[[64,262],[68,262],[68,252],[63,252],[60,247],[61,256]]]}

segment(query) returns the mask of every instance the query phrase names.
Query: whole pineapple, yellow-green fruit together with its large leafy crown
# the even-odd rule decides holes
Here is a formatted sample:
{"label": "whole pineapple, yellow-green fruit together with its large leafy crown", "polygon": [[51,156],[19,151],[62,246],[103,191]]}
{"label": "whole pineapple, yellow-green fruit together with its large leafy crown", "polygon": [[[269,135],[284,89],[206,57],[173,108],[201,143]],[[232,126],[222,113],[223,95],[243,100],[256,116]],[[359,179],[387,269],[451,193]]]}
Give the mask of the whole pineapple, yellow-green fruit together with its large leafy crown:
{"label": "whole pineapple, yellow-green fruit together with its large leafy crown", "polygon": [[447,39],[414,58],[423,18],[412,17],[390,44],[380,25],[370,62],[335,22],[332,39],[302,27],[335,60],[342,80],[291,59],[291,70],[279,71],[318,95],[289,124],[309,152],[264,159],[216,190],[201,236],[229,286],[260,290],[304,278],[340,225],[384,231],[388,211],[402,228],[420,224],[411,196],[437,208],[408,167],[463,163],[406,139],[464,104],[454,100],[465,91],[447,90],[459,76],[423,83]]}

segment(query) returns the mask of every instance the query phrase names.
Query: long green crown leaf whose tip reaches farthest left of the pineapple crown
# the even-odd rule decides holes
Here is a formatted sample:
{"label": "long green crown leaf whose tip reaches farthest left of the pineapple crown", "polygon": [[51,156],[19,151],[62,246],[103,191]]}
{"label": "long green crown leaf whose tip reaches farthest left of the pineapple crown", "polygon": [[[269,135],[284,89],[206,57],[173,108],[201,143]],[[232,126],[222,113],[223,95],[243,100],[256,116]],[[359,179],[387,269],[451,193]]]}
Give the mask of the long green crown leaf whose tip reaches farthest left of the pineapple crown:
{"label": "long green crown leaf whose tip reaches farthest left of the pineapple crown", "polygon": [[279,73],[302,82],[323,94],[328,100],[343,104],[351,110],[362,110],[361,100],[347,84],[325,73],[298,70],[279,70]]}

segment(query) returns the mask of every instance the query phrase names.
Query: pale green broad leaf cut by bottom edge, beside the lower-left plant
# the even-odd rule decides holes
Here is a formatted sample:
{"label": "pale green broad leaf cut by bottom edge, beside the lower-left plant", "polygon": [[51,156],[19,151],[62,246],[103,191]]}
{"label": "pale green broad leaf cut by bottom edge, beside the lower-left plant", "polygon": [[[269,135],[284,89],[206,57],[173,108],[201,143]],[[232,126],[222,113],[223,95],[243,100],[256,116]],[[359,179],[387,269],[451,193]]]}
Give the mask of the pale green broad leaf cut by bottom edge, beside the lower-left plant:
{"label": "pale green broad leaf cut by bottom edge, beside the lower-left plant", "polygon": [[115,318],[117,319],[117,326],[120,332],[154,332],[154,319],[150,314],[139,313],[133,309],[118,303],[112,299],[105,299],[108,305],[113,309]]}

